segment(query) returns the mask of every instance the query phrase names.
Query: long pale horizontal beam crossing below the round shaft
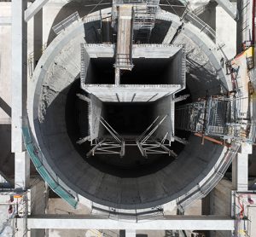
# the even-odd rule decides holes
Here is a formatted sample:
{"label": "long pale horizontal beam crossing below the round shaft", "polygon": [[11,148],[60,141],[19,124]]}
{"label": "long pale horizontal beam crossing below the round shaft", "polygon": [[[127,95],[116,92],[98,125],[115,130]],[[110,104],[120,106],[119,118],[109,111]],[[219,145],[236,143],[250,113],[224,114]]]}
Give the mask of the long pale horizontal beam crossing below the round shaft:
{"label": "long pale horizontal beam crossing below the round shaft", "polygon": [[[17,219],[23,222],[23,219]],[[212,216],[167,216],[162,219],[143,220],[141,223],[120,222],[112,219],[92,216],[45,215],[28,217],[27,228],[66,228],[66,229],[201,229],[201,230],[234,230],[234,220],[230,217]]]}

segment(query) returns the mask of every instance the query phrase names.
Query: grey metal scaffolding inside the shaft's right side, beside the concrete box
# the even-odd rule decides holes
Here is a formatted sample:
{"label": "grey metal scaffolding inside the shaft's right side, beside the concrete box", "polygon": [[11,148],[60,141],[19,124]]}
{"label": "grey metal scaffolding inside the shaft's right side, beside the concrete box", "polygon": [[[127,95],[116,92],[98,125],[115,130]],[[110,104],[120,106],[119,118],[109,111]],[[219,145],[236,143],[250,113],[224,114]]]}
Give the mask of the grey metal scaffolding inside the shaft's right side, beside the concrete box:
{"label": "grey metal scaffolding inside the shaft's right side, beside the concrete box", "polygon": [[210,96],[205,100],[177,107],[176,128],[205,136],[250,142],[247,122],[241,114],[241,100],[246,98]]}

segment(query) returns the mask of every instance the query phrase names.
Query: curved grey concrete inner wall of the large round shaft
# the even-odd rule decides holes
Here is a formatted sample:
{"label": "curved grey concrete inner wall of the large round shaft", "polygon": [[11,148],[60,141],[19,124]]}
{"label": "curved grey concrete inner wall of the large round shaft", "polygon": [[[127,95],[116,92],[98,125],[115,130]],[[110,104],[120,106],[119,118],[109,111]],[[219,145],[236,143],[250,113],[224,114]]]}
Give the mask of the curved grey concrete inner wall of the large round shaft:
{"label": "curved grey concrete inner wall of the large round shaft", "polygon": [[[67,94],[75,78],[79,77],[80,43],[84,43],[84,33],[86,40],[92,25],[79,21],[61,32],[44,52],[29,85],[29,120],[44,153],[45,165],[50,166],[70,189],[102,205],[134,209],[177,199],[207,176],[223,147],[211,142],[201,146],[200,138],[191,136],[189,145],[183,147],[173,162],[167,162],[148,175],[120,177],[108,169],[96,167],[95,160],[83,159],[67,134]],[[92,35],[89,38],[93,41]],[[211,60],[186,32],[179,35],[178,42],[186,43],[189,60],[200,65],[200,69],[195,63],[188,66],[192,98],[205,95],[207,89],[212,95],[218,93],[221,82]]]}

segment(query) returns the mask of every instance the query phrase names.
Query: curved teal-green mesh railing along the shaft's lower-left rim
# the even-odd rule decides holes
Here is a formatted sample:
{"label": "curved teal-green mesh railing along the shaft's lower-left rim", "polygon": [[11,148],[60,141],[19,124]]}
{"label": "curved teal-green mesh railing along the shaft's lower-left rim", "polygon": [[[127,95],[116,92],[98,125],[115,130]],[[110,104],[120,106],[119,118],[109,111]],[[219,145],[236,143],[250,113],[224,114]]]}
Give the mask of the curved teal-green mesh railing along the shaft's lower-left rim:
{"label": "curved teal-green mesh railing along the shaft's lower-left rim", "polygon": [[24,143],[26,146],[27,153],[32,159],[32,163],[35,165],[40,176],[44,178],[44,181],[49,185],[49,187],[58,194],[62,199],[66,200],[69,205],[72,205],[74,208],[78,205],[78,200],[67,190],[61,187],[60,183],[49,173],[44,165],[44,154],[32,139],[32,134],[29,128],[29,125],[22,127],[22,133],[24,138]]}

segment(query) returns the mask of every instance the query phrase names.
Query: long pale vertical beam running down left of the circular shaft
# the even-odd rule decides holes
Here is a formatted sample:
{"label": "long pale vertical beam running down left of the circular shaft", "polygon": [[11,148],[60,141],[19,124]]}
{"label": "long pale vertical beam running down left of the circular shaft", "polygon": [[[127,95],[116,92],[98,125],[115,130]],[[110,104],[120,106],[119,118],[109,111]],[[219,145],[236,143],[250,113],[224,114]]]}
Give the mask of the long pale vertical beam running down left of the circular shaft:
{"label": "long pale vertical beam running down left of the circular shaft", "polygon": [[26,5],[26,0],[12,1],[12,152],[15,153],[15,188],[20,189],[27,188],[30,173],[21,130],[26,116]]}

